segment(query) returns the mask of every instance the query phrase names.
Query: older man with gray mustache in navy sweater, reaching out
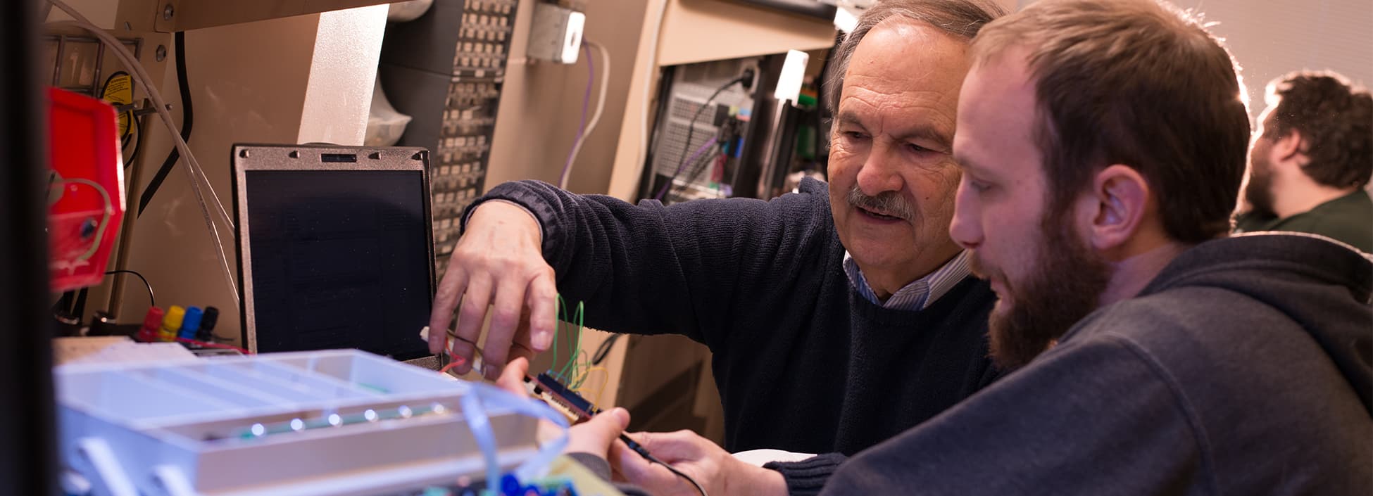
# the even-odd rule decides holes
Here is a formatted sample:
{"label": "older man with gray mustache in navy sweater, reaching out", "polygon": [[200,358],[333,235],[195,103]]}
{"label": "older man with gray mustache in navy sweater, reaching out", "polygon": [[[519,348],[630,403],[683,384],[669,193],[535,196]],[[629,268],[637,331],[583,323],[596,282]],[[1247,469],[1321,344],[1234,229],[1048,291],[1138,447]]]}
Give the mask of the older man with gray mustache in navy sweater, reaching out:
{"label": "older man with gray mustache in navy sweater, reaching out", "polygon": [[[998,375],[993,293],[947,230],[968,44],[1002,14],[979,0],[868,10],[836,52],[828,185],[669,207],[496,186],[468,207],[431,327],[448,327],[461,300],[456,351],[470,358],[494,303],[492,378],[507,358],[548,347],[555,290],[585,301],[592,327],[691,337],[714,352],[725,448],[829,454],[776,467],[798,491],[818,488],[844,455]],[[431,336],[445,349],[443,333]]]}

